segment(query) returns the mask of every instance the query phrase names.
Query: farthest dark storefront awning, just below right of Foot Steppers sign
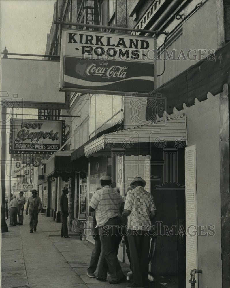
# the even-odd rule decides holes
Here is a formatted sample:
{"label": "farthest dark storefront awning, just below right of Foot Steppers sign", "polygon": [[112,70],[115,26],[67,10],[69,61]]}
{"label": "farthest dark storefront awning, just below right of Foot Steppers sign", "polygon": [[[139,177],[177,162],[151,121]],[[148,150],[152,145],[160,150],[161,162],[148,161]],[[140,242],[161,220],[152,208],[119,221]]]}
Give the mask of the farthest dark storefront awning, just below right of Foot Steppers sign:
{"label": "farthest dark storefront awning, just below right of Foot Steppers sign", "polygon": [[65,176],[75,171],[75,164],[71,164],[71,153],[74,150],[58,151],[50,157],[46,164],[46,176]]}

